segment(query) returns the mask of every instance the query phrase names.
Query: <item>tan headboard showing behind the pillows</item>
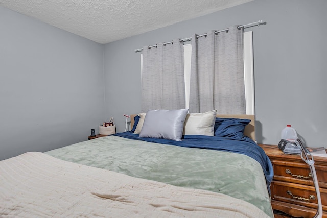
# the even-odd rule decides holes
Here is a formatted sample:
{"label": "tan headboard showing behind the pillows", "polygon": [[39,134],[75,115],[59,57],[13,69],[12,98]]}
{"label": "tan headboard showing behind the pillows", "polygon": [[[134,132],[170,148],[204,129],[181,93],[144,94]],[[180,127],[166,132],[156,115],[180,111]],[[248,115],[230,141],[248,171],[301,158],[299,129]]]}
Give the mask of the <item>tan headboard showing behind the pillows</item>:
{"label": "tan headboard showing behind the pillows", "polygon": [[[131,115],[131,128],[134,126],[134,117],[137,116],[137,114]],[[250,119],[251,122],[246,125],[244,130],[244,135],[251,138],[253,141],[255,141],[255,117],[254,115],[248,115],[248,114],[217,114],[216,117],[221,118],[238,118],[238,119]]]}

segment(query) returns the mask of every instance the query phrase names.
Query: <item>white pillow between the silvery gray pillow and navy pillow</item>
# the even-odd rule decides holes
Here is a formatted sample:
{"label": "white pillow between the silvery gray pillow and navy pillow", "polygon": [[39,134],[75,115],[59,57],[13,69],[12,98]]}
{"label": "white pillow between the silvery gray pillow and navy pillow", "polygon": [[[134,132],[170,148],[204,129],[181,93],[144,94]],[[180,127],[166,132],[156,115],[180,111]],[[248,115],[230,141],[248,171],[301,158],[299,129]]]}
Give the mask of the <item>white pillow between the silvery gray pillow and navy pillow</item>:
{"label": "white pillow between the silvery gray pillow and navy pillow", "polygon": [[215,136],[217,110],[205,113],[188,113],[184,122],[183,135]]}

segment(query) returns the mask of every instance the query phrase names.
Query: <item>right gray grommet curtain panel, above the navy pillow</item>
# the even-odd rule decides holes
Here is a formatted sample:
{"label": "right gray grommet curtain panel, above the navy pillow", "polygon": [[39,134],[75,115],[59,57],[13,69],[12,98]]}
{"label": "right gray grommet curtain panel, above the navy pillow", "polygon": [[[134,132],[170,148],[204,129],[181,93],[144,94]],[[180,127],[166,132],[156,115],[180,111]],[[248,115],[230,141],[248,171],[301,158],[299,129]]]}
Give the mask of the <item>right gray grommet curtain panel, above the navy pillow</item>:
{"label": "right gray grommet curtain panel, above the navy pillow", "polygon": [[190,112],[245,114],[243,29],[192,37]]}

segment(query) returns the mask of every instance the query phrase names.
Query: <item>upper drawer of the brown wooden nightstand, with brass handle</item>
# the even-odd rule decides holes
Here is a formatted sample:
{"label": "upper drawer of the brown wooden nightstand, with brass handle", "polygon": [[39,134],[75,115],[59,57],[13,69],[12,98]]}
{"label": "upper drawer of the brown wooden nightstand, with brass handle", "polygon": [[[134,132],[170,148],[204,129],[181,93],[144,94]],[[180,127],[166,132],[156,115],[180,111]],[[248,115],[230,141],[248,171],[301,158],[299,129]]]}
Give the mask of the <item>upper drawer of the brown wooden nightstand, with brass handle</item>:
{"label": "upper drawer of the brown wooden nightstand, with brass handle", "polygon": [[[292,163],[288,161],[274,160],[274,179],[279,181],[294,182],[303,185],[312,185],[312,175],[307,164]],[[327,167],[315,166],[319,187],[327,188]]]}

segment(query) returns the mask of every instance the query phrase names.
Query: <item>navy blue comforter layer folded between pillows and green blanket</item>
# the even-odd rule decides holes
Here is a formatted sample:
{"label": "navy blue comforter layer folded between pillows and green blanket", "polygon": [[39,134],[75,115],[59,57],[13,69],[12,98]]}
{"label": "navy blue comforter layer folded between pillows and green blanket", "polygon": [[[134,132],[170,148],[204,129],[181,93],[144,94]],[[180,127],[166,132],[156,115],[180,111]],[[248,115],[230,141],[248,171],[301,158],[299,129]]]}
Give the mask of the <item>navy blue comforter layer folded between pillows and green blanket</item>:
{"label": "navy blue comforter layer folded between pillows and green blanket", "polygon": [[270,159],[268,158],[264,150],[247,136],[243,137],[242,139],[239,139],[203,135],[185,135],[183,136],[182,141],[174,141],[161,138],[141,138],[138,137],[138,134],[133,134],[131,131],[116,133],[114,135],[153,143],[171,144],[175,146],[190,148],[212,149],[247,155],[260,163],[265,174],[267,188],[270,193],[269,186],[273,177],[273,168]]}

